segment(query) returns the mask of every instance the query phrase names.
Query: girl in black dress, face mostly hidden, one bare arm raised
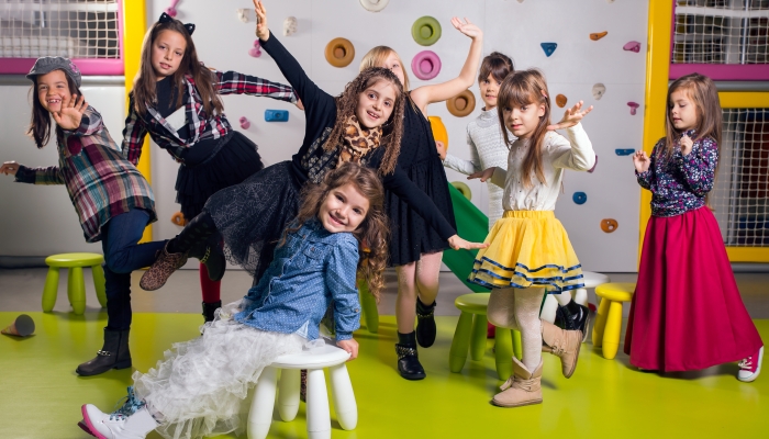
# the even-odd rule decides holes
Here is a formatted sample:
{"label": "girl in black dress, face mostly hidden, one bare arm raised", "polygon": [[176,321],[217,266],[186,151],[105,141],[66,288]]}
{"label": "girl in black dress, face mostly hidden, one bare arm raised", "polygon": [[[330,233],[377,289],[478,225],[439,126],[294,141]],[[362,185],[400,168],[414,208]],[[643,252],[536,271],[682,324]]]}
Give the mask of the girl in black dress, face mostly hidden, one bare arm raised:
{"label": "girl in black dress, face mostly hidden, one bare arm raised", "polygon": [[[469,21],[462,23],[454,18],[452,24],[472,40],[459,76],[452,80],[410,90],[400,56],[387,46],[369,50],[360,61],[360,69],[384,67],[400,79],[408,100],[398,165],[419,190],[430,195],[443,216],[456,228],[448,180],[426,119],[427,105],[443,102],[472,86],[483,47],[483,33]],[[435,297],[438,294],[443,250],[448,246],[439,230],[430,227],[424,217],[415,214],[413,205],[406,204],[392,191],[387,193],[387,210],[392,224],[390,264],[395,267],[398,273],[398,371],[406,380],[422,380],[425,372],[417,358],[416,344],[427,348],[435,341]],[[415,317],[419,319],[416,330]]]}

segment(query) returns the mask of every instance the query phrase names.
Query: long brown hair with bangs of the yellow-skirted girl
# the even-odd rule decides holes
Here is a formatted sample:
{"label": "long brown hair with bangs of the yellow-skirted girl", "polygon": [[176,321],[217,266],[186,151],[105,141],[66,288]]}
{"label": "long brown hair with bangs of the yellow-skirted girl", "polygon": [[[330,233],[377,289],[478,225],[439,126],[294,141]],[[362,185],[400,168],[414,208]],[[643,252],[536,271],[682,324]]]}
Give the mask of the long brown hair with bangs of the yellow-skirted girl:
{"label": "long brown hair with bangs of the yellow-skirted girl", "polygon": [[[539,117],[539,123],[528,139],[528,150],[523,159],[523,184],[525,188],[532,187],[532,171],[542,183],[545,181],[545,171],[542,165],[542,148],[545,144],[547,125],[550,124],[550,92],[547,90],[545,75],[537,69],[519,70],[508,76],[497,98],[497,111],[502,126],[504,124],[504,110],[523,105],[544,105],[545,114]],[[510,147],[511,142],[508,130],[502,130],[504,142]]]}

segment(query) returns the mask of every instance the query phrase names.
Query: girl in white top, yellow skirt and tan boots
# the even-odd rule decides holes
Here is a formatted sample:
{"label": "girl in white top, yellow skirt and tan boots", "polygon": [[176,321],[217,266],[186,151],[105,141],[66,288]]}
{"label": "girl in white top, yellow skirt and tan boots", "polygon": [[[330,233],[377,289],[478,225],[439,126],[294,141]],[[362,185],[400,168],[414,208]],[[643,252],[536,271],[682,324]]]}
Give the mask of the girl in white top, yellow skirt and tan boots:
{"label": "girl in white top, yellow skirt and tan boots", "polygon": [[[542,403],[542,350],[560,358],[564,376],[577,367],[580,330],[564,330],[539,319],[543,294],[560,293],[583,284],[582,269],[564,226],[553,211],[566,169],[587,171],[595,161],[592,145],[579,121],[591,110],[582,101],[550,125],[550,99],[538,70],[516,71],[499,92],[499,117],[517,137],[510,144],[506,171],[489,168],[481,178],[504,188],[504,214],[478,251],[469,280],[492,289],[489,322],[521,331],[523,362],[513,358],[513,375],[492,403],[516,407]],[[568,128],[565,138],[549,130]]]}

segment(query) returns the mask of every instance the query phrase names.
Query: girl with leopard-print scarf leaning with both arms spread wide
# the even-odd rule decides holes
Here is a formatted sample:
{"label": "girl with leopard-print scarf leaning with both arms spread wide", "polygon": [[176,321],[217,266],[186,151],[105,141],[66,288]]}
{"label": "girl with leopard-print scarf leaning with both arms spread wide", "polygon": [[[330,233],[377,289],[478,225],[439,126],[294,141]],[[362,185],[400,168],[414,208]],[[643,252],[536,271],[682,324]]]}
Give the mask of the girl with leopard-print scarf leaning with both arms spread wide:
{"label": "girl with leopard-print scarf leaning with both arms spread wide", "polygon": [[[161,256],[144,274],[145,284],[161,285],[178,268],[176,260],[183,259],[196,243],[216,230],[224,237],[230,259],[258,282],[282,227],[297,214],[301,187],[319,183],[326,172],[346,161],[377,169],[384,187],[414,205],[453,247],[479,246],[457,236],[433,201],[414,187],[397,164],[404,101],[398,78],[388,69],[368,69],[349,82],[342,95],[330,95],[308,78],[269,32],[264,4],[254,4],[261,48],[275,59],[304,104],[304,140],[290,161],[270,166],[242,184],[214,194],[203,212],[171,240],[179,254]],[[392,127],[388,134],[382,133],[384,125]],[[379,251],[384,246],[371,248]]]}

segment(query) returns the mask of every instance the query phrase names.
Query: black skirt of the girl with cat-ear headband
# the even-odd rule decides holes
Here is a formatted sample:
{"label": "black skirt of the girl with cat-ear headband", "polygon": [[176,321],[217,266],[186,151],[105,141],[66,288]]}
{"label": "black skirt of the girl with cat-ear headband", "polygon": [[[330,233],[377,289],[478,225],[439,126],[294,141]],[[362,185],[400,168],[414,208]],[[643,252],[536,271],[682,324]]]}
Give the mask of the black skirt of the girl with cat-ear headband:
{"label": "black skirt of the girl with cat-ear headband", "polygon": [[243,182],[265,166],[257,146],[238,132],[211,158],[196,166],[182,165],[176,177],[176,202],[188,221],[203,210],[211,195]]}

